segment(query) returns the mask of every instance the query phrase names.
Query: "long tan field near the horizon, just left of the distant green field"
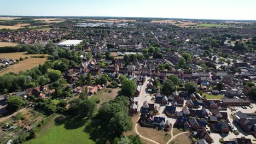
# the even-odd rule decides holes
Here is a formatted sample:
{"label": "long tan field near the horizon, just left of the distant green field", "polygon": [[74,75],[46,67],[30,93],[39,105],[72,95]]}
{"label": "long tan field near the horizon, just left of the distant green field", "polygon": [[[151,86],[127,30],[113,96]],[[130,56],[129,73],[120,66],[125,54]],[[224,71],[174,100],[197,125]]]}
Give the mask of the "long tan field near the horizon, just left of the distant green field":
{"label": "long tan field near the horizon, just left of the distant green field", "polygon": [[172,25],[176,25],[176,26],[179,26],[179,27],[190,27],[190,26],[195,26],[195,25],[198,24],[198,23],[195,23],[195,22],[192,22],[192,21],[174,21],[174,20],[153,20],[151,22],[152,23],[170,23]]}

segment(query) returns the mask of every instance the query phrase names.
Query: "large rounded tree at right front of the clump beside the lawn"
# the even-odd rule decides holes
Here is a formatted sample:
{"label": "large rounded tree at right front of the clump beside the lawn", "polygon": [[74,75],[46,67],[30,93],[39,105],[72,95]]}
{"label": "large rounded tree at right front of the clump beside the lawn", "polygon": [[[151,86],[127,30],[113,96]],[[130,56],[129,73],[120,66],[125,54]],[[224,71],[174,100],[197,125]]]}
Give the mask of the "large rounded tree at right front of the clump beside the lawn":
{"label": "large rounded tree at right front of the clump beside the lawn", "polygon": [[124,112],[115,113],[114,117],[110,119],[108,129],[116,135],[132,130],[131,116]]}

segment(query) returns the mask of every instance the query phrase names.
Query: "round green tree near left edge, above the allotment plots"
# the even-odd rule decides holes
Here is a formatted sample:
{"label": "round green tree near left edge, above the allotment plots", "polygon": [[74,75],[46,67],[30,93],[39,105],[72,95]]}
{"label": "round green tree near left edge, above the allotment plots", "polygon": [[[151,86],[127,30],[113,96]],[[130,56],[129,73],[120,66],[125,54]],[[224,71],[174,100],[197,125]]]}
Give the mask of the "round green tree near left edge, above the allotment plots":
{"label": "round green tree near left edge, above the allotment plots", "polygon": [[20,109],[23,104],[23,100],[18,95],[13,95],[7,100],[7,110],[16,111]]}

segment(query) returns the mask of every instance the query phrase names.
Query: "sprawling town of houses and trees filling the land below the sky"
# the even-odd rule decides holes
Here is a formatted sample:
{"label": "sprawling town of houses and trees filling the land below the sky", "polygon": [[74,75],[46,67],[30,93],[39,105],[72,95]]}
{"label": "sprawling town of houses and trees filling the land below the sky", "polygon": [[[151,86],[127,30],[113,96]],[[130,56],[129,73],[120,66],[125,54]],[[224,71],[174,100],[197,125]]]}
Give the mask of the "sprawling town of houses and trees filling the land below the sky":
{"label": "sprawling town of houses and trees filling the land below the sky", "polygon": [[255,143],[255,21],[36,18],[0,29],[0,143]]}

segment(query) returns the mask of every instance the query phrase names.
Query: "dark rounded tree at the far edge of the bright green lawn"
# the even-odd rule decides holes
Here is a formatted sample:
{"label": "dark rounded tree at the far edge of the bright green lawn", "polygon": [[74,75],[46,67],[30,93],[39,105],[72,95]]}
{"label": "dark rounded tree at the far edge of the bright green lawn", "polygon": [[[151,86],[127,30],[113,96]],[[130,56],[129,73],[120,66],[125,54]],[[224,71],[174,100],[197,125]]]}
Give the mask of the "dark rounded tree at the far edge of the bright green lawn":
{"label": "dark rounded tree at the far edge of the bright green lawn", "polygon": [[84,100],[79,106],[79,116],[82,117],[91,117],[92,113],[96,108],[96,102],[94,100]]}

